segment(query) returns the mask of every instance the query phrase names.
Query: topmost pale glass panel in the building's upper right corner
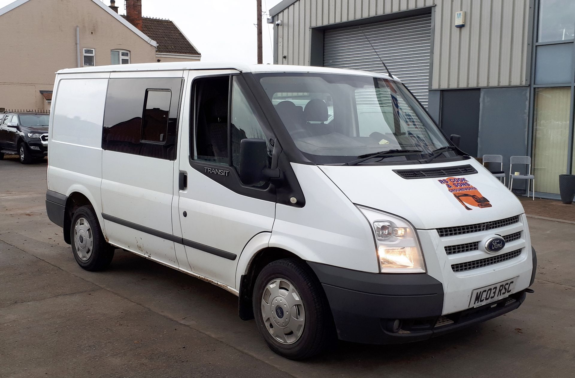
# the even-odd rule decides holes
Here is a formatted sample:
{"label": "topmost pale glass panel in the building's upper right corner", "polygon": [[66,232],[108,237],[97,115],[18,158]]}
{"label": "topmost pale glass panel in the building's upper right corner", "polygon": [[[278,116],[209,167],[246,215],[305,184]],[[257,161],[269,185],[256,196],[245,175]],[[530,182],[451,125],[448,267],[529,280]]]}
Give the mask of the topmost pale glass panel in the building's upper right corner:
{"label": "topmost pale glass panel in the building's upper right corner", "polygon": [[541,0],[538,42],[572,40],[575,34],[575,1]]}

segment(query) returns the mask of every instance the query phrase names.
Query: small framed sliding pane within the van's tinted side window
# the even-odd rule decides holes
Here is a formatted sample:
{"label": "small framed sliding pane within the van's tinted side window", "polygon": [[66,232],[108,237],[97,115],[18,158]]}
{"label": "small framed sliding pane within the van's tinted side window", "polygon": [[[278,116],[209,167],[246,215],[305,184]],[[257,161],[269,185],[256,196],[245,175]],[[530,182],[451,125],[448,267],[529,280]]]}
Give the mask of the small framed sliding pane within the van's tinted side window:
{"label": "small framed sliding pane within the van's tinted side window", "polygon": [[142,142],[166,143],[171,97],[170,90],[148,89],[145,91]]}

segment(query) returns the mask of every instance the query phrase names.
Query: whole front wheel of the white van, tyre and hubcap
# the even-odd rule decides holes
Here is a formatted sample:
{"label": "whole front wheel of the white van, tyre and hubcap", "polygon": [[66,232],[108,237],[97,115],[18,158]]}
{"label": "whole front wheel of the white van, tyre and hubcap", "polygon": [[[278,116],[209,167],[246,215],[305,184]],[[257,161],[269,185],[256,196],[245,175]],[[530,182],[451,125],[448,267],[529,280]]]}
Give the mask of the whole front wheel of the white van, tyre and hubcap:
{"label": "whole front wheel of the white van, tyre and hubcap", "polygon": [[311,269],[296,259],[266,265],[253,294],[255,321],[267,345],[280,356],[302,360],[333,339],[329,304]]}

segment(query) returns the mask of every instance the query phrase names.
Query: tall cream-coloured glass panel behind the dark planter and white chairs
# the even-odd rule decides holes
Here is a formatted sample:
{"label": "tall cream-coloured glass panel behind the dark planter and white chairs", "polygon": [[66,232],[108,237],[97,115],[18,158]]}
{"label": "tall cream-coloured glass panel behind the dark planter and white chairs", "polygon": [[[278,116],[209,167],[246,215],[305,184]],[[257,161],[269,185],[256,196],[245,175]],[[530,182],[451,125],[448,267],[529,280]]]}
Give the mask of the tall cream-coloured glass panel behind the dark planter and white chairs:
{"label": "tall cream-coloured glass panel behind the dark planter and white chairs", "polygon": [[535,88],[535,191],[559,193],[559,175],[567,171],[570,107],[571,87]]}

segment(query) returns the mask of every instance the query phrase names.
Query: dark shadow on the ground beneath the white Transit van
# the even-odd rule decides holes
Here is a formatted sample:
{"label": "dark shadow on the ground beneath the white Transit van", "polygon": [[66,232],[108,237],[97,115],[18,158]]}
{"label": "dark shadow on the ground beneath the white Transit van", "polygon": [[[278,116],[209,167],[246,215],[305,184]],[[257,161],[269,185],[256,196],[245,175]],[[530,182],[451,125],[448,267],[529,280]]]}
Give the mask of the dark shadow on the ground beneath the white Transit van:
{"label": "dark shadow on the ground beneath the white Transit van", "polygon": [[[116,250],[112,265],[104,273],[112,281],[122,281],[118,284],[124,285],[124,290],[132,291],[130,287],[133,286],[134,290],[137,288],[138,291],[145,292],[150,302],[160,301],[157,305],[162,307],[162,312],[175,314],[186,311],[193,319],[196,329],[233,329],[235,335],[222,331],[222,338],[231,342],[241,339],[243,345],[259,345],[266,349],[254,321],[242,321],[237,316],[237,297],[213,284],[120,249]],[[485,341],[488,344],[497,342],[498,338],[496,333],[480,324],[431,340],[409,344],[368,345],[338,340],[327,353],[306,360],[305,363],[329,365],[330,370],[338,366],[347,370],[352,368],[354,363],[362,365],[357,368],[366,368],[363,364],[368,361],[372,365],[383,366],[428,360],[438,356],[451,360],[459,357],[460,346],[474,344],[480,337],[492,338],[491,341]],[[258,349],[261,349],[259,347]]]}

